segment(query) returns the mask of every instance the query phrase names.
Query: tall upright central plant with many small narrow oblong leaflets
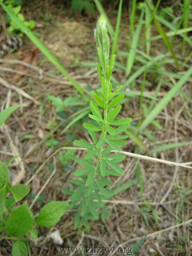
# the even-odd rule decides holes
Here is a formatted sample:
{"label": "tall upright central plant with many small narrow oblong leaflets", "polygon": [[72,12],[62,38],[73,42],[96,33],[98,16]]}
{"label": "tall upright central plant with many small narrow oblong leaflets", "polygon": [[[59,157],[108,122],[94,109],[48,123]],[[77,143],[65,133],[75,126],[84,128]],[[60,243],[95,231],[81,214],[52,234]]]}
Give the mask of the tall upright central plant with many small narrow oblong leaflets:
{"label": "tall upright central plant with many small narrow oblong leaflets", "polygon": [[[91,100],[90,102],[92,114],[89,114],[89,117],[95,123],[84,124],[84,128],[88,130],[93,143],[89,143],[86,140],[74,141],[77,147],[86,148],[87,154],[84,159],[74,156],[71,157],[78,164],[84,165],[83,168],[74,172],[74,176],[80,177],[81,180],[72,179],[70,189],[63,189],[64,193],[71,195],[69,208],[77,208],[74,221],[75,229],[80,226],[89,228],[88,220],[99,219],[99,208],[106,207],[101,200],[109,198],[114,194],[113,190],[105,188],[106,186],[112,185],[108,181],[107,176],[119,176],[123,173],[123,170],[117,163],[124,160],[124,155],[108,153],[112,149],[121,151],[119,146],[126,145],[126,141],[122,139],[126,139],[128,136],[119,134],[127,129],[132,120],[131,118],[116,119],[116,116],[121,110],[121,105],[118,105],[118,103],[124,98],[124,95],[120,94],[116,96],[122,86],[119,86],[112,92],[110,78],[113,71],[115,55],[111,56],[109,62],[109,38],[106,29],[106,20],[103,16],[97,22],[95,39],[100,60],[100,64],[97,64],[97,71],[102,89],[97,90],[97,94],[93,94],[95,101]],[[101,111],[97,104],[101,107]],[[118,126],[118,128],[114,129],[112,126]],[[96,132],[100,132],[100,134]],[[104,148],[107,144],[108,146]],[[101,217],[103,218],[103,216]]]}

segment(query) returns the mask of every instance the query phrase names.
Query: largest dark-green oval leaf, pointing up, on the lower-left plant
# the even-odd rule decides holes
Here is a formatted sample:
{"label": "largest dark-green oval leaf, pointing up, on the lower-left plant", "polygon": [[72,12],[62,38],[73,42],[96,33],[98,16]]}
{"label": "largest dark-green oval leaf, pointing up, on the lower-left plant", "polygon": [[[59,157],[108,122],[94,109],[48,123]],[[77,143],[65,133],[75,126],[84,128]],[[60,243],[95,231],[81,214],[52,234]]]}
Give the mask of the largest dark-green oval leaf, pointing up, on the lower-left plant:
{"label": "largest dark-green oval leaf, pointing up, on the lower-left plant", "polygon": [[27,202],[12,211],[5,222],[5,232],[10,236],[23,236],[33,224],[33,215]]}

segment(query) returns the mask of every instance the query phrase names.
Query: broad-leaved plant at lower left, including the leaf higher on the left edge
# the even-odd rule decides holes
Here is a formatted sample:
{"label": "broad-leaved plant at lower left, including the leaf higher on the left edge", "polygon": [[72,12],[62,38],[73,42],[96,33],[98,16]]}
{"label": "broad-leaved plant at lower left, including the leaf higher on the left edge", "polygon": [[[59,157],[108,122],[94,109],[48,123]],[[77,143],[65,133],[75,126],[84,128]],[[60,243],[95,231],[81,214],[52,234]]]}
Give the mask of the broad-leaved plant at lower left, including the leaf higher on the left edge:
{"label": "broad-leaved plant at lower left, including the leaf higher on the left edge", "polygon": [[[0,126],[20,105],[0,112]],[[10,186],[9,169],[0,161],[0,239],[15,241],[12,256],[28,256],[26,243],[38,241],[37,226],[51,227],[64,214],[68,201],[52,201],[39,212],[36,220],[27,202],[19,204],[30,188],[23,184]],[[8,194],[9,197],[7,198]]]}

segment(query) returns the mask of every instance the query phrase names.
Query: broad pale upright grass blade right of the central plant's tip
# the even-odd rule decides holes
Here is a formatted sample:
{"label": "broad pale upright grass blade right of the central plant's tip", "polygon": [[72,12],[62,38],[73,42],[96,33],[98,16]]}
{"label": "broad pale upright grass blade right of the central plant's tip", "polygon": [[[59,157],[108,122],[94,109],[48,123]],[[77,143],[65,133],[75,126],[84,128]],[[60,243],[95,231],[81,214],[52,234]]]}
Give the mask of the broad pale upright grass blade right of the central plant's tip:
{"label": "broad pale upright grass blade right of the central plant's tip", "polygon": [[129,51],[128,58],[127,58],[127,67],[126,67],[126,72],[125,72],[126,77],[131,73],[131,70],[132,70],[132,67],[133,67],[133,64],[134,64],[135,54],[136,54],[135,50],[137,49],[137,45],[138,45],[138,41],[139,41],[143,16],[144,16],[144,10],[141,11],[139,22],[137,24],[136,31],[135,31],[134,36],[132,38],[131,49]]}

